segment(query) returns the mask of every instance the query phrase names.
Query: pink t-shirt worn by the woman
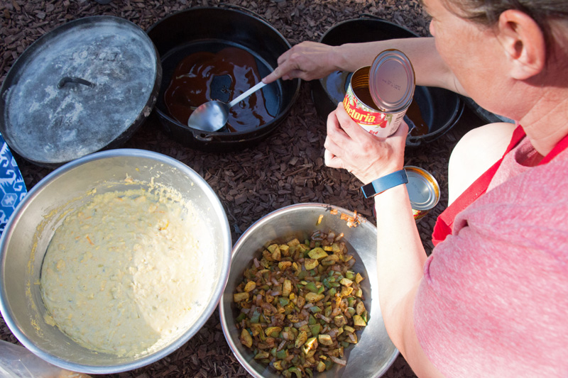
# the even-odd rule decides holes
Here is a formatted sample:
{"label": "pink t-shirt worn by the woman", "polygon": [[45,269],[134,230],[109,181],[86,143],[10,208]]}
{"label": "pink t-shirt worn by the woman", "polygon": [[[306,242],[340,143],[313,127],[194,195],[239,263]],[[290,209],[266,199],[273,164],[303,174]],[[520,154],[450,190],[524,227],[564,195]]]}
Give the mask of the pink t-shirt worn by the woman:
{"label": "pink t-shirt worn by the woman", "polygon": [[415,330],[447,377],[568,377],[568,150],[523,140],[428,258]]}

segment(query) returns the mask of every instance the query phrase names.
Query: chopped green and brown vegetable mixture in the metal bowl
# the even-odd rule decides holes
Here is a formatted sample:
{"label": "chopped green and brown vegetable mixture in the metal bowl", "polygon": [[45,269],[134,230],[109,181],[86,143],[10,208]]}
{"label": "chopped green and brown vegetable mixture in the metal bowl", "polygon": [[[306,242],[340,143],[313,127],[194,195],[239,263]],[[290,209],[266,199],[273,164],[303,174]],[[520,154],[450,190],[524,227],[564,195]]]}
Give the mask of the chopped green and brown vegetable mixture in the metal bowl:
{"label": "chopped green and brown vegetable mixture in the metal bowl", "polygon": [[346,365],[344,348],[357,343],[368,313],[343,234],[271,244],[244,271],[234,301],[236,326],[254,359],[284,377],[312,377]]}

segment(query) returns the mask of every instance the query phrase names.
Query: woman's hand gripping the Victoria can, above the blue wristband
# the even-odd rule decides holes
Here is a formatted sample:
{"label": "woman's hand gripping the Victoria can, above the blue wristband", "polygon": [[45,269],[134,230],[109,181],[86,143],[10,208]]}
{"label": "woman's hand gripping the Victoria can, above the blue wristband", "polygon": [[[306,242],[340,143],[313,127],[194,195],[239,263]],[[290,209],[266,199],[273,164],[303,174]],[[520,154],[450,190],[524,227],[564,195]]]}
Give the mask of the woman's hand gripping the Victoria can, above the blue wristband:
{"label": "woman's hand gripping the Victoria can, above the blue wristband", "polygon": [[327,117],[325,164],[344,168],[364,184],[403,169],[408,125],[403,122],[388,138],[377,138],[346,113],[343,104]]}

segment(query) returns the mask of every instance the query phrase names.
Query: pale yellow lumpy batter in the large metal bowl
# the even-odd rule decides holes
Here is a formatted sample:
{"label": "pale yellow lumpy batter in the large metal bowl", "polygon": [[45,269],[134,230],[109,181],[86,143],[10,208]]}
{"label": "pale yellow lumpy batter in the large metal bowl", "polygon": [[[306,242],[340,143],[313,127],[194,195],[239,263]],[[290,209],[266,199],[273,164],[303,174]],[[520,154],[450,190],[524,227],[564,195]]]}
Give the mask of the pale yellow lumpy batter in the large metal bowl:
{"label": "pale yellow lumpy batter in the large metal bowl", "polygon": [[[55,230],[47,321],[85,347],[138,355],[178,336],[212,292],[210,240],[190,204],[143,189],[96,194]],[[200,279],[201,278],[201,279]]]}

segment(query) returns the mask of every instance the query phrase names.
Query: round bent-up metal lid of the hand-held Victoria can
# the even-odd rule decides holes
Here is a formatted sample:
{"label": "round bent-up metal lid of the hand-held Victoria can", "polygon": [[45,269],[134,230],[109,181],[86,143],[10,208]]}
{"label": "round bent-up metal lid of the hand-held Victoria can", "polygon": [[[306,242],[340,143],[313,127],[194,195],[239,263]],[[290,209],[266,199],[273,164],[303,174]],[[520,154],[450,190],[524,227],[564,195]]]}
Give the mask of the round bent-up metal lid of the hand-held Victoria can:
{"label": "round bent-up metal lid of the hand-held Victoria can", "polygon": [[369,91],[381,111],[403,111],[413,101],[413,65],[399,50],[385,50],[376,56],[369,71]]}

